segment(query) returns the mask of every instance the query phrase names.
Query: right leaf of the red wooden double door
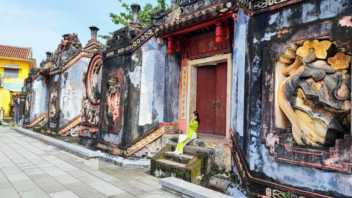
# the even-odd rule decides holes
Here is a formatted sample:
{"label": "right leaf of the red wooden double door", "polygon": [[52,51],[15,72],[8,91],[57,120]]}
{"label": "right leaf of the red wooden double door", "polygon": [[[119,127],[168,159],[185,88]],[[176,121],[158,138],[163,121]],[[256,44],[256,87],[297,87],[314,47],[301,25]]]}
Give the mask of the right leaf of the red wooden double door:
{"label": "right leaf of the red wooden double door", "polygon": [[227,63],[219,63],[216,66],[216,135],[226,134],[226,84]]}

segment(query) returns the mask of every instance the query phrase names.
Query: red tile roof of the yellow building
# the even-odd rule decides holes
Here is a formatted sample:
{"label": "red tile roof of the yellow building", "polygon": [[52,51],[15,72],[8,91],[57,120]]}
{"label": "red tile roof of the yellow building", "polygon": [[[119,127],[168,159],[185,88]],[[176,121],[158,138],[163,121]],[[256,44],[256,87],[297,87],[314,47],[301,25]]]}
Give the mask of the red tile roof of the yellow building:
{"label": "red tile roof of the yellow building", "polygon": [[32,58],[32,47],[0,45],[0,56],[14,58]]}

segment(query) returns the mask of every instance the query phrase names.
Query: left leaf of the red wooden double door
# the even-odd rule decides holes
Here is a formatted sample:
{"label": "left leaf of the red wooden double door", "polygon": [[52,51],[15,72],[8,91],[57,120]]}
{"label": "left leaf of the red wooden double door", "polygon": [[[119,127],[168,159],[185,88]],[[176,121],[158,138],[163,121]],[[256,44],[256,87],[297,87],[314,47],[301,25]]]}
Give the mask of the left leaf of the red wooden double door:
{"label": "left leaf of the red wooden double door", "polygon": [[197,69],[197,102],[196,110],[199,113],[201,124],[200,133],[215,132],[215,113],[213,101],[216,94],[216,67],[214,65],[201,66]]}

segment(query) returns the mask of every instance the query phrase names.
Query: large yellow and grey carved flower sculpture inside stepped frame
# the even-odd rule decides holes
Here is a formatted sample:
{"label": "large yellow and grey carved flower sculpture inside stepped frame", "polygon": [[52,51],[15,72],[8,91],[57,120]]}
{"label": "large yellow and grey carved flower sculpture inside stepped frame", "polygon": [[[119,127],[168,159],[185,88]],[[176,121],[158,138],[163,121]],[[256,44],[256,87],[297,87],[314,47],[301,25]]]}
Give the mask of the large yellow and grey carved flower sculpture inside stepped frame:
{"label": "large yellow and grey carved flower sculpture inside stepped frame", "polygon": [[304,41],[296,55],[282,70],[288,77],[279,84],[278,104],[298,145],[327,149],[349,130],[343,120],[351,111],[351,55],[317,39]]}

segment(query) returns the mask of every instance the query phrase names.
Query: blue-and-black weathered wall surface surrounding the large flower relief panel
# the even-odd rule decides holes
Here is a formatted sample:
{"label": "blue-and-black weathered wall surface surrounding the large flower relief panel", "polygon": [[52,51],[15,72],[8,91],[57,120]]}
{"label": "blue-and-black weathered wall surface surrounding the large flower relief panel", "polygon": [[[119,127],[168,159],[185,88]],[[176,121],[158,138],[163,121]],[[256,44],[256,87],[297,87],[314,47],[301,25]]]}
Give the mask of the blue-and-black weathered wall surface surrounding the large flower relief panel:
{"label": "blue-and-black weathered wall surface surrounding the large flower relief panel", "polygon": [[[245,60],[247,61],[241,63],[246,68],[245,87],[248,88],[245,89],[244,94],[244,134],[242,136],[241,133],[235,133],[235,136],[240,142],[245,161],[253,177],[332,197],[351,196],[351,174],[275,161],[261,141],[263,49],[270,37],[277,36],[276,32],[284,28],[323,22],[332,17],[342,18],[345,15],[351,15],[351,11],[352,3],[348,0],[315,0],[302,1],[250,18],[249,34],[246,36]],[[244,24],[243,18],[239,11],[235,30],[240,24]],[[235,36],[235,39],[238,36]],[[244,50],[244,46],[241,47]],[[243,60],[243,55],[237,52],[236,45],[234,57],[235,67],[237,61]],[[232,112],[234,118],[235,110]],[[232,130],[239,131],[238,125],[236,128],[232,123]]]}

